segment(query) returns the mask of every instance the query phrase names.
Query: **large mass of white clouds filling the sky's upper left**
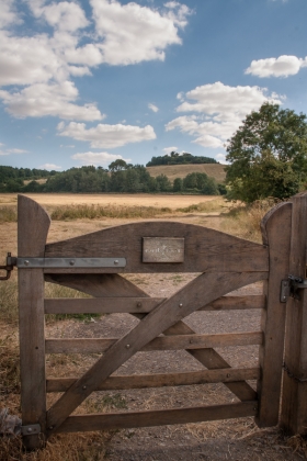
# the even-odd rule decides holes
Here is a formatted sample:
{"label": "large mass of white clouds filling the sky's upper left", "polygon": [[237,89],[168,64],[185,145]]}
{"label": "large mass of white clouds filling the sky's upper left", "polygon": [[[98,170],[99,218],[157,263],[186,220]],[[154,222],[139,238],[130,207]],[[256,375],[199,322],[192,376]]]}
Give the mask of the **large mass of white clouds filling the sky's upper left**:
{"label": "large mass of white clouds filling the sky's upper left", "polygon": [[[95,104],[76,103],[79,93],[70,77],[89,76],[101,64],[164,59],[168,46],[181,44],[179,31],[191,13],[178,2],[160,9],[117,0],[89,3],[92,12],[87,18],[75,1],[26,0],[34,25],[32,33],[21,36],[10,30],[22,23],[19,2],[0,0],[0,86],[9,87],[1,98],[13,116],[102,120]],[[35,32],[36,24],[43,32]]]}

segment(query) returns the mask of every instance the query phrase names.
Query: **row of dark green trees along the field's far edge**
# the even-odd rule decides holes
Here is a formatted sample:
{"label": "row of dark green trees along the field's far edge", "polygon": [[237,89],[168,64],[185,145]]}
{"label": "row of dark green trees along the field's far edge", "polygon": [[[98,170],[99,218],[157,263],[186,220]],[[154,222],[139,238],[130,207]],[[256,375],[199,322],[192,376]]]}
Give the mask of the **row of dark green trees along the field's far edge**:
{"label": "row of dark green trees along the field's far edge", "polygon": [[49,175],[45,183],[35,179],[24,184],[20,178],[0,183],[0,192],[70,192],[70,193],[201,193],[218,195],[225,193],[225,185],[218,184],[206,173],[193,172],[185,178],[175,178],[173,183],[166,175],[150,176],[143,165],[130,165],[115,160],[109,169],[102,167],[70,168]]}

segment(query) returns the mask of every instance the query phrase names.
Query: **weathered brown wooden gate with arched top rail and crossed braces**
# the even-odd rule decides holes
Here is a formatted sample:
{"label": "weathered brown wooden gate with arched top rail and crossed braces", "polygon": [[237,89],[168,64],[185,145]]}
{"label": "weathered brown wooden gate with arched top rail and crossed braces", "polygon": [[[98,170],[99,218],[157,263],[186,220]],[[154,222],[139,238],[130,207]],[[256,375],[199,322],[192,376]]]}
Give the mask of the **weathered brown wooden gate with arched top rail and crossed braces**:
{"label": "weathered brown wooden gate with arched top rail and crossed braces", "polygon": [[[52,434],[144,427],[255,416],[260,426],[278,423],[285,337],[285,304],[280,301],[281,281],[291,271],[305,277],[306,195],[273,209],[262,221],[263,245],[201,226],[143,222],[106,228],[46,245],[50,220],[31,199],[19,196],[18,268],[20,296],[20,345],[22,423],[25,446],[39,446]],[[299,241],[296,240],[300,233]],[[303,235],[304,234],[304,235]],[[291,252],[291,248],[293,252]],[[289,258],[289,255],[292,257]],[[121,273],[200,272],[169,299],[152,299],[121,277]],[[227,296],[257,281],[265,281],[263,295]],[[44,281],[88,293],[93,299],[44,299]],[[304,290],[300,290],[304,292]],[[287,297],[287,293],[285,294]],[[285,301],[285,300],[284,300]],[[291,303],[304,304],[300,301]],[[291,304],[288,303],[288,304]],[[184,322],[194,311],[262,308],[259,331],[196,335]],[[291,308],[291,307],[289,307]],[[45,339],[48,313],[130,313],[139,323],[120,339]],[[286,341],[286,367],[302,378],[299,350],[306,350],[302,310],[289,314],[293,331]],[[298,318],[297,318],[298,317]],[[294,330],[300,323],[299,334]],[[163,336],[160,336],[163,335]],[[296,356],[289,352],[296,342]],[[300,342],[305,341],[303,346]],[[230,368],[215,347],[260,345],[259,367]],[[133,376],[112,375],[141,350],[183,349],[198,360],[204,371]],[[45,355],[103,352],[81,378],[48,379]],[[306,358],[304,359],[306,368]],[[304,380],[285,373],[282,419],[306,423],[289,416]],[[257,392],[247,383],[258,380]],[[240,401],[228,405],[170,408],[122,414],[71,415],[96,390],[141,389],[223,382]],[[295,387],[295,389],[293,389]],[[46,408],[46,392],[62,392]],[[287,396],[292,393],[292,401]],[[300,396],[300,402],[302,402]],[[296,423],[295,423],[296,424]],[[300,426],[292,423],[297,430]]]}

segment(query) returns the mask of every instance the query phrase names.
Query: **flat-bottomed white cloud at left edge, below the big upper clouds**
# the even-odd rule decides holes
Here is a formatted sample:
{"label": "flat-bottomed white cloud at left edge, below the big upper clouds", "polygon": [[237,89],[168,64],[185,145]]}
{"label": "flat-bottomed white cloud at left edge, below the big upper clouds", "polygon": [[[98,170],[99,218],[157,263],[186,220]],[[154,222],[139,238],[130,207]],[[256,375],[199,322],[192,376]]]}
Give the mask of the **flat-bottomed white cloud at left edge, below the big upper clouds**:
{"label": "flat-bottomed white cloud at left edge, below the big upper clouds", "polygon": [[66,120],[103,120],[95,104],[73,104],[78,90],[71,81],[31,85],[19,92],[0,90],[0,99],[15,117],[53,115]]}

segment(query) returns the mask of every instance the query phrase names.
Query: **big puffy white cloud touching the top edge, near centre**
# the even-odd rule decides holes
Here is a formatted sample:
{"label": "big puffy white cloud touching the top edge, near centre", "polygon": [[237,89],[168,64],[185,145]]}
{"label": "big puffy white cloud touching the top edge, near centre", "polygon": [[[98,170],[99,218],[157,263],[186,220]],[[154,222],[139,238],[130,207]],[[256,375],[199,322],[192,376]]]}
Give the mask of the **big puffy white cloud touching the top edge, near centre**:
{"label": "big puffy white cloud touching the top edge, near centre", "polygon": [[[128,65],[143,60],[164,59],[169,45],[181,44],[178,27],[184,27],[190,10],[175,5],[177,11],[161,13],[148,7],[116,0],[90,0],[103,61]],[[141,38],[140,38],[141,37]]]}

